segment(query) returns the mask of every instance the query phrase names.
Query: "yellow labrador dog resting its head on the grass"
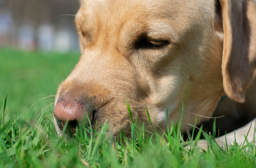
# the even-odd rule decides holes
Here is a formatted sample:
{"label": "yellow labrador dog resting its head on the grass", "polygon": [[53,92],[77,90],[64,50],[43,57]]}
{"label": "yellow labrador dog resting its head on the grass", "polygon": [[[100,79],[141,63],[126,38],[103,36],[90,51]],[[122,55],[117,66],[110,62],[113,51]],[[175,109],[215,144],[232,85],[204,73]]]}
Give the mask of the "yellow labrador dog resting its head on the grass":
{"label": "yellow labrador dog resting its head on the grass", "polygon": [[183,131],[225,94],[256,113],[254,87],[246,94],[256,69],[253,0],[82,0],[76,26],[81,57],[58,89],[59,134],[67,119],[74,133],[88,115],[93,127],[108,119],[109,134],[129,136],[126,99],[150,129],[146,105],[159,132],[167,109],[169,123],[180,119],[182,102]]}

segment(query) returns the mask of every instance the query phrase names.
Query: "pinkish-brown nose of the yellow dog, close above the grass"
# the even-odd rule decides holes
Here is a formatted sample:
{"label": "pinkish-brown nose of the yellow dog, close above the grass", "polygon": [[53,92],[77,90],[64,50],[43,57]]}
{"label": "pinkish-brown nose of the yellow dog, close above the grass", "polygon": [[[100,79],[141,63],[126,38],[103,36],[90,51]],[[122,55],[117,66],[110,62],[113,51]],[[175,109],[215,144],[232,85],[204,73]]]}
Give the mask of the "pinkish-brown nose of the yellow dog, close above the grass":
{"label": "pinkish-brown nose of the yellow dog, close above the grass", "polygon": [[67,130],[73,134],[79,124],[88,125],[93,120],[93,114],[85,106],[76,99],[59,99],[53,110],[59,129],[62,131],[68,121]]}

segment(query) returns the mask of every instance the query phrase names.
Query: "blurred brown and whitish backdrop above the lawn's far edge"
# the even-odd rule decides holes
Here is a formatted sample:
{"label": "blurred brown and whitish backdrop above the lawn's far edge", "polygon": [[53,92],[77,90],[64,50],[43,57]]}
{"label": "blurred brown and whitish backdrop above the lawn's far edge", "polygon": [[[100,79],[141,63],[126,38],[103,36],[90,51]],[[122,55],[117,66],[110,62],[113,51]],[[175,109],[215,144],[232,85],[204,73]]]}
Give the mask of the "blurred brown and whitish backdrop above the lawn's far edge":
{"label": "blurred brown and whitish backdrop above the lawn's far edge", "polygon": [[79,0],[0,0],[0,46],[32,51],[79,50]]}

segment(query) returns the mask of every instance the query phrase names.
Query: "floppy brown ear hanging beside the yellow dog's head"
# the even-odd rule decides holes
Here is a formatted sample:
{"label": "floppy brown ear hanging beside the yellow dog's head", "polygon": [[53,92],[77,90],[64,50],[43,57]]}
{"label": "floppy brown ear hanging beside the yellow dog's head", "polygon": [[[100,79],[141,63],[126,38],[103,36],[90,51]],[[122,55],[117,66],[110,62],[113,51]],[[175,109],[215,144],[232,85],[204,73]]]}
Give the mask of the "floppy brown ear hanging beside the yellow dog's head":
{"label": "floppy brown ear hanging beside the yellow dog's head", "polygon": [[244,102],[256,70],[256,4],[254,0],[217,0],[216,18],[215,29],[221,27],[223,38],[224,91]]}

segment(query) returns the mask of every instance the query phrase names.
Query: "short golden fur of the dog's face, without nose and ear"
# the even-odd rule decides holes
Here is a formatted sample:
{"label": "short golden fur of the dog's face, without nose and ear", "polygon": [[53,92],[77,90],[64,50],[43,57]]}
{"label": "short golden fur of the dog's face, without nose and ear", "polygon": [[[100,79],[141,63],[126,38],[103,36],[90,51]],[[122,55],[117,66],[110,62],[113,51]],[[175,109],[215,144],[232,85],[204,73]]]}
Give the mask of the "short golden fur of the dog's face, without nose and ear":
{"label": "short golden fur of the dog's face, without nose and ear", "polygon": [[[147,118],[145,105],[151,120],[164,131],[167,107],[170,124],[179,120],[184,103],[186,130],[186,123],[194,124],[197,117],[191,112],[212,115],[224,88],[241,101],[242,95],[229,88],[234,82],[226,79],[229,70],[221,69],[226,66],[222,54],[228,37],[215,6],[215,0],[83,0],[76,15],[81,57],[59,86],[55,103],[66,94],[90,98],[98,109],[98,123],[108,119],[110,134],[118,135],[120,128],[129,136],[126,99],[146,129],[151,126],[142,119]],[[138,39],[144,35],[160,42],[140,47]],[[203,120],[199,117],[197,123]]]}

